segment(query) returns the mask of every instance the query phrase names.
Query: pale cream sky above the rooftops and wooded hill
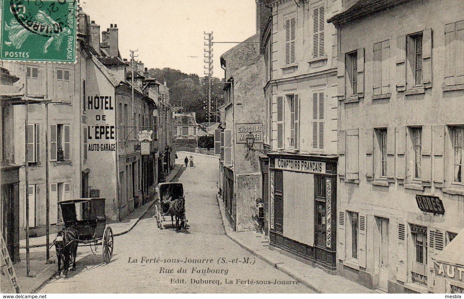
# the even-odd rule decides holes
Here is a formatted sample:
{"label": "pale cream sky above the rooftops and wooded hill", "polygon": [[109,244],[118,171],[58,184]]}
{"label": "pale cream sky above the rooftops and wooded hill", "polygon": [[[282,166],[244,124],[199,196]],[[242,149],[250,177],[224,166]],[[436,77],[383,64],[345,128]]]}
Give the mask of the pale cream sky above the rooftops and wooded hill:
{"label": "pale cream sky above the rooftops and wooded hill", "polygon": [[[80,4],[100,31],[117,24],[122,58],[138,49],[135,59],[145,67],[170,67],[200,77],[206,71],[204,32],[213,32],[214,42],[243,41],[256,33],[255,0],[80,0]],[[219,58],[234,45],[213,44],[214,77],[224,77]]]}

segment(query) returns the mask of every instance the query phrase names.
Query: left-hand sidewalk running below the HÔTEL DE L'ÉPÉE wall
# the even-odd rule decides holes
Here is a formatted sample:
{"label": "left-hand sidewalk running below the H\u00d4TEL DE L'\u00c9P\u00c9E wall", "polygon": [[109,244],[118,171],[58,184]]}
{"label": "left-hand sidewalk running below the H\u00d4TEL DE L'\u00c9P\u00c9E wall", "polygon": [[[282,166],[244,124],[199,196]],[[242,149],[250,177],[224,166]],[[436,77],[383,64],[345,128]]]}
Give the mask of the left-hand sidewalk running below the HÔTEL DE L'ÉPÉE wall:
{"label": "left-hand sidewalk running below the H\u00d4TEL DE L'\u00c9P\u00c9E wall", "polygon": [[[166,182],[170,182],[174,177],[179,173],[181,169],[181,164],[176,164],[174,169],[166,176]],[[123,221],[109,221],[107,225],[110,225],[113,229],[113,234],[115,236],[125,234],[129,232],[132,228],[135,227],[137,222],[142,219],[142,217],[147,213],[148,209],[155,203],[155,200],[147,202],[143,206],[136,208],[131,214],[129,214]],[[50,242],[55,240],[56,234],[50,234]],[[16,277],[18,278],[19,287],[22,293],[34,293],[50,280],[58,269],[57,264],[45,264],[45,243],[46,237],[40,236],[37,238],[30,238],[29,245],[32,247],[30,249],[30,268],[31,273],[35,277],[27,277],[26,269],[26,240],[20,240],[19,245],[19,257],[21,261],[13,265],[14,270],[16,271]],[[22,248],[24,247],[24,248]],[[50,260],[56,260],[55,247],[50,249]],[[79,259],[76,259],[76,261]],[[2,280],[3,286],[4,280]],[[2,287],[3,289],[3,287]],[[5,288],[6,289],[6,288]]]}

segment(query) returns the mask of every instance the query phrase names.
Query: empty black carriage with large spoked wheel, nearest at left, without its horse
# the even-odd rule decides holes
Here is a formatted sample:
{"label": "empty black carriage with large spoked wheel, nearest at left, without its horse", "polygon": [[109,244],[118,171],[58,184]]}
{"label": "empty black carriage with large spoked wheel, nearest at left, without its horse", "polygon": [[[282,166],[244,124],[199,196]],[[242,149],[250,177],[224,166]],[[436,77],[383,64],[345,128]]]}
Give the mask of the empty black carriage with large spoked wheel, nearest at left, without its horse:
{"label": "empty black carriage with large spoked wheel, nearest at left, without its horse", "polygon": [[[64,228],[77,231],[77,246],[93,246],[97,249],[102,245],[102,255],[105,263],[113,256],[113,230],[106,226],[105,199],[80,198],[58,202],[63,215]],[[82,220],[77,219],[77,208],[82,208]],[[93,251],[93,249],[92,249]]]}

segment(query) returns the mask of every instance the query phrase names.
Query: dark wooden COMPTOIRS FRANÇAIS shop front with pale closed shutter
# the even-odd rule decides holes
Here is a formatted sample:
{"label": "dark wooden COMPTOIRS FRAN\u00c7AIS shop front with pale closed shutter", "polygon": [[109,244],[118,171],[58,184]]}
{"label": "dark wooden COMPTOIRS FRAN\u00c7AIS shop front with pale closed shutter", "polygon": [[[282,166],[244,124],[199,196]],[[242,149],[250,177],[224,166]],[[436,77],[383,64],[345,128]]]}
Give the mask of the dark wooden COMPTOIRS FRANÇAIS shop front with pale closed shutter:
{"label": "dark wooden COMPTOIRS FRAN\u00c7AIS shop front with pale closed shutter", "polygon": [[269,153],[270,245],[336,273],[336,157]]}

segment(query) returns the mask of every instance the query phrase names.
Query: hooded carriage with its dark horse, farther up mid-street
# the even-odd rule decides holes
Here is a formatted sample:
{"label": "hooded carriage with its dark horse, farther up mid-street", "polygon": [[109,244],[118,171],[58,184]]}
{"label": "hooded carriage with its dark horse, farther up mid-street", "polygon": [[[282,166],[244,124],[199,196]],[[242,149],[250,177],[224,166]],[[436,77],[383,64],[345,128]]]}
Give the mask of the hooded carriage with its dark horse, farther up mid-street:
{"label": "hooded carriage with its dark horse, farther up mid-street", "polygon": [[173,217],[176,218],[175,227],[177,231],[179,231],[179,228],[187,228],[188,220],[185,215],[185,196],[182,184],[173,182],[159,183],[156,187],[156,194],[156,226],[160,229],[163,229],[162,222],[168,221],[166,217],[171,216],[171,223],[173,226]]}

